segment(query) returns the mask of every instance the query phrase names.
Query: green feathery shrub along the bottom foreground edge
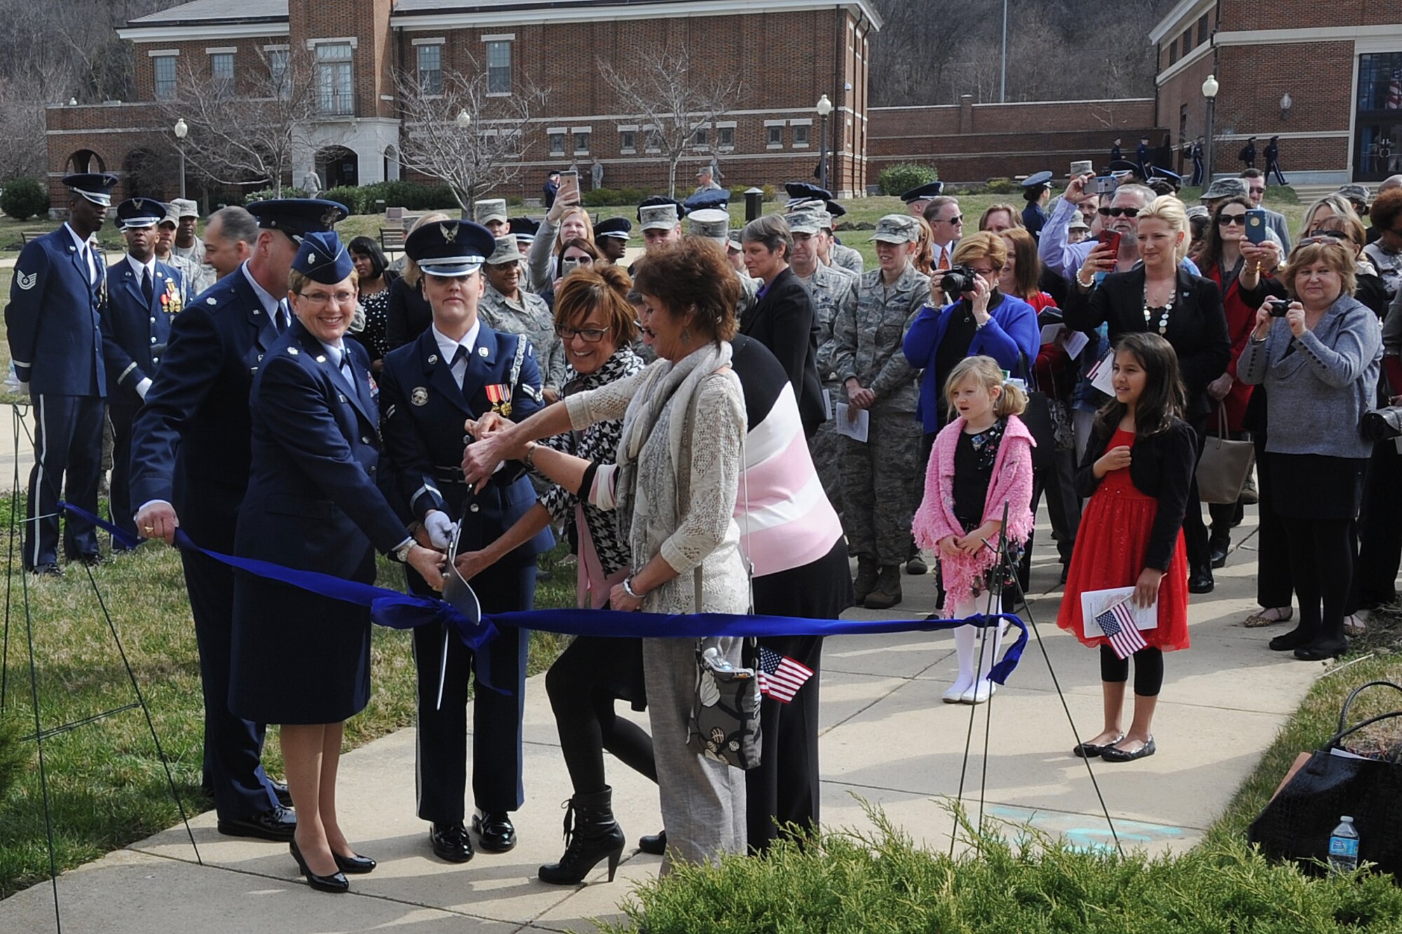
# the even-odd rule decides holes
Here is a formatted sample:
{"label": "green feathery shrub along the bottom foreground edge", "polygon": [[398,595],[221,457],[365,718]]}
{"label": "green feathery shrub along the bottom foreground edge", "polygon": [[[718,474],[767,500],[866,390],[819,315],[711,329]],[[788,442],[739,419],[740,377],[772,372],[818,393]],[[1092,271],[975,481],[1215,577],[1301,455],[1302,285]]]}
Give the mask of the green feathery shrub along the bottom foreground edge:
{"label": "green feathery shrub along the bottom foreground edge", "polygon": [[885,815],[876,833],[781,840],[765,858],[673,864],[624,905],[651,934],[742,931],[1396,931],[1387,875],[1309,878],[1241,840],[1150,858],[1074,848],[1030,827],[1018,843],[963,826],[951,858],[914,846]]}

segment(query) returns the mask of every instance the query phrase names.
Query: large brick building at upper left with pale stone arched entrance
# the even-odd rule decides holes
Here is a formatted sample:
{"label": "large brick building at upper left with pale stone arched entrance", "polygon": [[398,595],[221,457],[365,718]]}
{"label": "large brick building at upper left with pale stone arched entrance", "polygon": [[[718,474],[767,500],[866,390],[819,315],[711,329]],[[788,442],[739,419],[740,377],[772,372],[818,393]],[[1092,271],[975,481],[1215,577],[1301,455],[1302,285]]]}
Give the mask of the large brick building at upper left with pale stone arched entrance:
{"label": "large brick building at upper left with pale stone arched entrance", "polygon": [[[594,59],[620,70],[645,49],[686,48],[693,66],[743,73],[742,100],[683,157],[679,191],[715,160],[725,184],[810,178],[826,121],[829,181],[861,191],[866,174],[866,60],[880,18],[868,0],[193,0],[132,20],[136,102],[60,105],[48,111],[50,188],[67,171],[118,174],[118,196],[172,196],[172,121],[161,101],[182,76],[227,81],[258,95],[269,72],[306,55],[318,95],[311,144],[287,181],[315,171],[324,187],[370,184],[401,174],[397,72],[488,69],[495,94],[533,84],[548,90],[531,119],[512,191],[538,194],[548,168],[596,161],[610,188],[665,189],[667,165],[649,151],[637,114],[622,112]],[[795,50],[801,53],[795,55]],[[62,203],[56,196],[55,203]]]}

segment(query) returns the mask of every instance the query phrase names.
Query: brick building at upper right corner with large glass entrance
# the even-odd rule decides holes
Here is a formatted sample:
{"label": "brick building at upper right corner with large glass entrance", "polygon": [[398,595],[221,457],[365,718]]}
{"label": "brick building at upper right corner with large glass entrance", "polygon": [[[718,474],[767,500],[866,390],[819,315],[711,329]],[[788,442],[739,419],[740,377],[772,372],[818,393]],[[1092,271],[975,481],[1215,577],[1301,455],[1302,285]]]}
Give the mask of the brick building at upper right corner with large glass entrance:
{"label": "brick building at upper right corner with large glass entrance", "polygon": [[1217,77],[1214,174],[1242,168],[1237,156],[1251,136],[1258,151],[1280,136],[1293,184],[1402,171],[1402,4],[1182,0],[1150,42],[1155,122],[1175,144],[1207,135],[1202,86]]}

